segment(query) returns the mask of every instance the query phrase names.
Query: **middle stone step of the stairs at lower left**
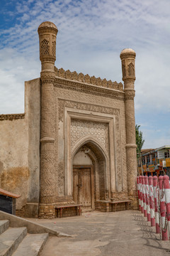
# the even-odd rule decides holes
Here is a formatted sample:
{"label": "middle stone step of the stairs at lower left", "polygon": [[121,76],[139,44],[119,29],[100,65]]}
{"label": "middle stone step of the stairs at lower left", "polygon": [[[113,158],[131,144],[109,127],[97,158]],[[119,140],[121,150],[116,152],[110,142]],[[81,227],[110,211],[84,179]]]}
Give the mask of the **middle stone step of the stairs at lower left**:
{"label": "middle stone step of the stairs at lower left", "polygon": [[0,235],[0,256],[11,256],[27,234],[26,228],[8,228]]}

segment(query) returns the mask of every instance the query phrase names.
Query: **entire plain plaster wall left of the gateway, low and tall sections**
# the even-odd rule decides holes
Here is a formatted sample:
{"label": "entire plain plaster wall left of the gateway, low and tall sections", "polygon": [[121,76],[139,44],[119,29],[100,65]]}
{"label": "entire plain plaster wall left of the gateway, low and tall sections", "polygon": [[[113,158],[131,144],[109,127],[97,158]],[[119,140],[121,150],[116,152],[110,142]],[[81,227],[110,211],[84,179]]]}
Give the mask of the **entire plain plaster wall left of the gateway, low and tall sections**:
{"label": "entire plain plaster wall left of the gateway, low and tall sections", "polygon": [[25,112],[24,118],[0,119],[0,186],[21,195],[16,209],[28,204],[27,210],[38,210],[33,204],[40,194],[40,78],[25,84]]}

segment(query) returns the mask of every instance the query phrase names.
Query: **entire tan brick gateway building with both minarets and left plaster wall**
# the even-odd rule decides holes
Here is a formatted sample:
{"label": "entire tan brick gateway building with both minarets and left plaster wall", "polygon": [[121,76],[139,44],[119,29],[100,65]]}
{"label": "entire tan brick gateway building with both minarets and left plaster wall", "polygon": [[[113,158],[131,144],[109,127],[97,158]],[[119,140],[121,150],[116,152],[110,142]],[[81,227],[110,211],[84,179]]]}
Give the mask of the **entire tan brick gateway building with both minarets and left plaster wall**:
{"label": "entire tan brick gateway building with both minarets and left plaster wall", "polygon": [[25,113],[1,114],[1,188],[17,214],[54,218],[55,206],[130,199],[137,207],[135,51],[120,53],[123,82],[55,67],[57,27],[44,22],[40,78],[25,83]]}

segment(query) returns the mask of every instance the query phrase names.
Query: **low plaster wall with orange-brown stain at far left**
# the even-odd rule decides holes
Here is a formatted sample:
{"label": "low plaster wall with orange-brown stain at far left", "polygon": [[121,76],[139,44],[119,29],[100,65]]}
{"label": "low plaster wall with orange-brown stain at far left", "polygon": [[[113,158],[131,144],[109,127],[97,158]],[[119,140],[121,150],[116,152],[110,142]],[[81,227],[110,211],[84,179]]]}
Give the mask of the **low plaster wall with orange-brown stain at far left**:
{"label": "low plaster wall with orange-brown stain at far left", "polygon": [[21,195],[16,208],[26,205],[28,178],[28,125],[26,119],[0,122],[1,188]]}

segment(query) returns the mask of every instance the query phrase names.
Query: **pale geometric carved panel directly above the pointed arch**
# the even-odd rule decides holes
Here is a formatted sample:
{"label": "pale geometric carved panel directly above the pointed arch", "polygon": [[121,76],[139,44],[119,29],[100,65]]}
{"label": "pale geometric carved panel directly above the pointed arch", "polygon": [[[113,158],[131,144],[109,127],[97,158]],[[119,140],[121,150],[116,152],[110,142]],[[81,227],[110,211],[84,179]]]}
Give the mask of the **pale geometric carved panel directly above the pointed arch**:
{"label": "pale geometric carved panel directly above the pointed arch", "polygon": [[85,135],[91,135],[98,139],[106,149],[108,149],[108,124],[101,122],[91,122],[80,119],[72,119],[71,122],[71,144]]}

